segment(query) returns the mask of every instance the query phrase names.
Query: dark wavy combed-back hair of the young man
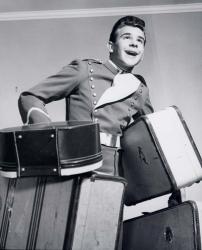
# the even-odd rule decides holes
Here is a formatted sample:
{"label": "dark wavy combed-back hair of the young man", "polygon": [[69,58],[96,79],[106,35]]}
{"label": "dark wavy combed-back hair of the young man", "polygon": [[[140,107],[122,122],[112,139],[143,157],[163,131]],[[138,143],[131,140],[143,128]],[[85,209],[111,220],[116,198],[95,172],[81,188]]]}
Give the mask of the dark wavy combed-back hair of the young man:
{"label": "dark wavy combed-back hair of the young man", "polygon": [[[136,16],[124,16],[119,19],[113,26],[109,41],[116,41],[116,31],[124,26],[133,26],[140,28],[145,34],[145,22]],[[145,36],[146,37],[146,36]]]}

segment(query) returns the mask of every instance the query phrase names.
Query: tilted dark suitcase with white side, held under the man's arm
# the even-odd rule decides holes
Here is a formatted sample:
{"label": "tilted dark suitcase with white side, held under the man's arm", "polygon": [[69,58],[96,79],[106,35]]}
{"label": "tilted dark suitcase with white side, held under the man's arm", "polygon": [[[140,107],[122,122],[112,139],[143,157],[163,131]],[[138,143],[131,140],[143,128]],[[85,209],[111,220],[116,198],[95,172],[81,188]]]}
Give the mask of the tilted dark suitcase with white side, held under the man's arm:
{"label": "tilted dark suitcase with white side, held under the man's arm", "polygon": [[177,107],[140,116],[121,138],[125,203],[133,205],[202,179],[202,160]]}

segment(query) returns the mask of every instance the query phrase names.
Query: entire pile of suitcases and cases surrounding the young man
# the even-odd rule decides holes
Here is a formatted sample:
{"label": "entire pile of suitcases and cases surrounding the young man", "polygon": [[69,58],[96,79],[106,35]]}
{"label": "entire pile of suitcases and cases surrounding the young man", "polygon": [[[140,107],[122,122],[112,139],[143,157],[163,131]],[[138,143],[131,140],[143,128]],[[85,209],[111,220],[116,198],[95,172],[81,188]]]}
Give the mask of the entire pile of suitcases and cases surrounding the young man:
{"label": "entire pile of suitcases and cases surrounding the young man", "polygon": [[[140,116],[121,146],[115,177],[92,172],[102,165],[97,123],[1,130],[0,249],[201,250],[202,205],[180,190],[201,181],[202,160],[179,109]],[[176,204],[122,226],[124,204],[165,194]]]}

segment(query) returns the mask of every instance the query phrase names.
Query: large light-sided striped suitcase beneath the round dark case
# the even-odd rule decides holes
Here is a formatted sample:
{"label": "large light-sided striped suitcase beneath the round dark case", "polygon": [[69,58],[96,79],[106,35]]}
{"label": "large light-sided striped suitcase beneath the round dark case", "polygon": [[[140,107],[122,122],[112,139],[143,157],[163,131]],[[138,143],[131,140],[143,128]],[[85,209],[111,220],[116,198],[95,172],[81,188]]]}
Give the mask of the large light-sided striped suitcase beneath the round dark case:
{"label": "large light-sided striped suitcase beneath the round dark case", "polygon": [[0,188],[0,249],[117,249],[124,179],[1,177]]}

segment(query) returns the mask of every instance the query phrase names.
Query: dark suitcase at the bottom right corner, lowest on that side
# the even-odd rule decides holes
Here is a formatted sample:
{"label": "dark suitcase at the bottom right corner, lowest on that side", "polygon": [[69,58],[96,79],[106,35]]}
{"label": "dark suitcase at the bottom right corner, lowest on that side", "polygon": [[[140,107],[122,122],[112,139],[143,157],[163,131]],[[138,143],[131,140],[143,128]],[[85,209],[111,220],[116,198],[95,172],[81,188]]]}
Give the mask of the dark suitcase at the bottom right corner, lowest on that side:
{"label": "dark suitcase at the bottom right corner, lowest on that side", "polygon": [[124,250],[201,250],[202,204],[186,201],[123,223]]}

